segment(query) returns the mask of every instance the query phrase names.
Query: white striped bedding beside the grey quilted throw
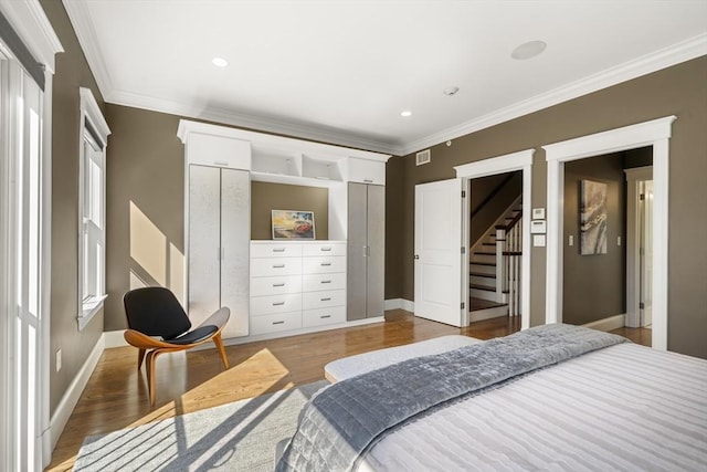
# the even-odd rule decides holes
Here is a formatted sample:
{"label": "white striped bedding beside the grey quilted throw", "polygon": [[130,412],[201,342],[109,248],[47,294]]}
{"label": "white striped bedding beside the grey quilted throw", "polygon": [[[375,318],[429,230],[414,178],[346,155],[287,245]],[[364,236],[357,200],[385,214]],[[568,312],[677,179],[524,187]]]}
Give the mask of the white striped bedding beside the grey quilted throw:
{"label": "white striped bedding beside the grey quilted throw", "polygon": [[383,438],[359,471],[705,471],[707,360],[620,344]]}

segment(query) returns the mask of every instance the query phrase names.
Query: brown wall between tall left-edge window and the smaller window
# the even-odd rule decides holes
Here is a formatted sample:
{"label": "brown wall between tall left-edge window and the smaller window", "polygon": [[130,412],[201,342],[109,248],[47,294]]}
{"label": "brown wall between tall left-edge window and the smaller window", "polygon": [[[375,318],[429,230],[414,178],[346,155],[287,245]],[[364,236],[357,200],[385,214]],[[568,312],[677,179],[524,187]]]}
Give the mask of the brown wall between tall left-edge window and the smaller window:
{"label": "brown wall between tall left-edge window and the smaller window", "polygon": [[[50,369],[50,415],[103,332],[98,313],[81,332],[78,316],[78,87],[89,87],[104,108],[78,40],[60,1],[41,1],[63,53],[56,55],[52,96],[52,286],[50,365],[62,349],[62,369]],[[108,147],[110,138],[108,138]]]}

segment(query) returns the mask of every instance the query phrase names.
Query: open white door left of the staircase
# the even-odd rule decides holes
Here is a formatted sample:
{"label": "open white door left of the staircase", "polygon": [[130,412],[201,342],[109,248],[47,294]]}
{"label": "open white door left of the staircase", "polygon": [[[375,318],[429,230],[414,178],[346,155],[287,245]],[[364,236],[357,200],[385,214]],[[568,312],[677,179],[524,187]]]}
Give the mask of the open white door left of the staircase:
{"label": "open white door left of the staircase", "polygon": [[415,186],[415,316],[463,326],[462,179]]}

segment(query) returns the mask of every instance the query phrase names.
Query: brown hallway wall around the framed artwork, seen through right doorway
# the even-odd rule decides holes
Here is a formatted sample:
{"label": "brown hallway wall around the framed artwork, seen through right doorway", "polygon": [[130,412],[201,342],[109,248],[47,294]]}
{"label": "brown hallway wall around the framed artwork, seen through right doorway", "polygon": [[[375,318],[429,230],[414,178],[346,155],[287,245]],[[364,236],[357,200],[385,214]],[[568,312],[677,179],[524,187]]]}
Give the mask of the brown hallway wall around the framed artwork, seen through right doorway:
{"label": "brown hallway wall around the framed artwork, seen through right doorway", "polygon": [[[622,160],[621,154],[612,154],[564,165],[564,323],[581,325],[626,312],[626,199]],[[606,183],[605,254],[580,254],[579,193],[583,179]],[[574,238],[571,247],[570,235]]]}

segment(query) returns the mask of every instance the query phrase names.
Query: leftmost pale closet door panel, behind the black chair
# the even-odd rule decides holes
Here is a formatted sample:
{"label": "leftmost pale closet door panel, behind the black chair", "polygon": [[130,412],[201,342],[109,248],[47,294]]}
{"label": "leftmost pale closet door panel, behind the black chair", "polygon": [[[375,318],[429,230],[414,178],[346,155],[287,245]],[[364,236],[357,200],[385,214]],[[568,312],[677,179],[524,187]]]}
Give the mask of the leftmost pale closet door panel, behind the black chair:
{"label": "leftmost pale closet door panel, behind the black chair", "polygon": [[189,318],[199,325],[220,307],[220,169],[189,166]]}

